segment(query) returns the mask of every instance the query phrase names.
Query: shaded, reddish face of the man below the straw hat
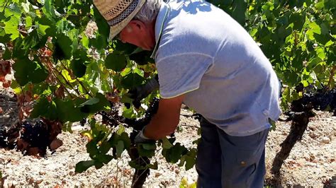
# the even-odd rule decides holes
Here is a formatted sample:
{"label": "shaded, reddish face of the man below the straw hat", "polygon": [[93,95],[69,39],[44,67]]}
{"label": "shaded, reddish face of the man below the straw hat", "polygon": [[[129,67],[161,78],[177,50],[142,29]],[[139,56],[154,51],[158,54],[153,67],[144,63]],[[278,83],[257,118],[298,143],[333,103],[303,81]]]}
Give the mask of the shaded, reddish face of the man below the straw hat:
{"label": "shaded, reddish face of the man below the straw hat", "polygon": [[140,20],[131,20],[130,23],[121,30],[119,39],[124,43],[128,42],[142,49],[152,50],[155,47],[154,27]]}

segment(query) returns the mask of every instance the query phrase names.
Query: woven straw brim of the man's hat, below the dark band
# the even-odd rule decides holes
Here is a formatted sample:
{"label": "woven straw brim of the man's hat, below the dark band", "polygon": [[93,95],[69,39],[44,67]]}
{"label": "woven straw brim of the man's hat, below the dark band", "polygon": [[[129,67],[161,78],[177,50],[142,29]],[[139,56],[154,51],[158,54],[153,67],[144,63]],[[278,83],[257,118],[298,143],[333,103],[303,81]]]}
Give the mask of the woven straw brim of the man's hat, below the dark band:
{"label": "woven straw brim of the man's hat, below the dark band", "polygon": [[110,35],[108,37],[108,40],[113,40],[113,38],[116,37],[116,35],[118,35],[118,33],[120,33],[121,30],[123,30],[123,28],[125,28],[126,25],[128,25],[128,23],[130,23],[130,20],[134,18],[134,16],[138,13],[138,11],[140,11],[142,5],[145,4],[145,1],[146,0],[138,0],[138,5],[135,7],[134,11],[130,13],[130,15],[127,18],[122,20],[121,23],[118,23],[110,27]]}

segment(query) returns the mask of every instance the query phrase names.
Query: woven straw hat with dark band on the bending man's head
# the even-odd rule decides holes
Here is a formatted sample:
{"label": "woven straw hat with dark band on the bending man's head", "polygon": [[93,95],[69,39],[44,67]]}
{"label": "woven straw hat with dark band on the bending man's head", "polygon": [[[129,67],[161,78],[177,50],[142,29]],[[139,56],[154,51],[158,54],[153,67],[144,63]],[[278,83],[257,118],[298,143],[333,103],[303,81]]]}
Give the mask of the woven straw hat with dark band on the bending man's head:
{"label": "woven straw hat with dark band on the bending man's head", "polygon": [[138,13],[146,0],[94,0],[94,5],[110,25],[112,40]]}

